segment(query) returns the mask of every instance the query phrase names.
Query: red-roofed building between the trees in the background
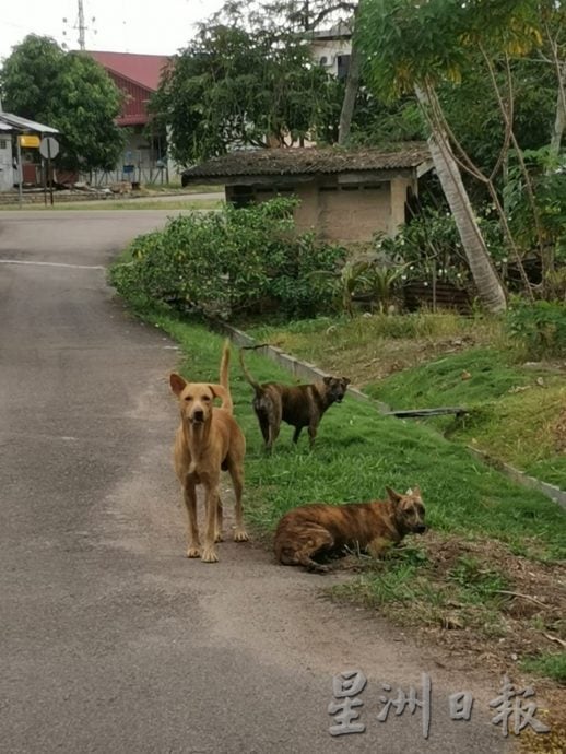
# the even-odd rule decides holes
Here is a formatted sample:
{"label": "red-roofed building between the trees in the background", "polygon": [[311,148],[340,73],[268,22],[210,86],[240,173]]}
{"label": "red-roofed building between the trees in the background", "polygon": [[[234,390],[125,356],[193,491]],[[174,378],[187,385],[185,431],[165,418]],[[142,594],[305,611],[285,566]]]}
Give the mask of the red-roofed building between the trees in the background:
{"label": "red-roofed building between the trees in the background", "polygon": [[148,101],[157,90],[163,69],[169,58],[165,55],[134,55],[130,52],[97,52],[87,50],[106,69],[115,84],[125,93],[118,126],[144,126],[149,120]]}

